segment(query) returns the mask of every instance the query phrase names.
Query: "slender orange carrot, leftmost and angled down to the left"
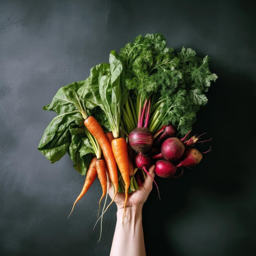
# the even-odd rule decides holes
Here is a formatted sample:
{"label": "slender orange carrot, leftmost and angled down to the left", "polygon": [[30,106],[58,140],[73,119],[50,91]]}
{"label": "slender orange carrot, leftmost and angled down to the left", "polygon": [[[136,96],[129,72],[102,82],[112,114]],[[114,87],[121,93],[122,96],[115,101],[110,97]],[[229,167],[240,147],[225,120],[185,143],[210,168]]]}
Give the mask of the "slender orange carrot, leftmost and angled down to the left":
{"label": "slender orange carrot, leftmost and angled down to the left", "polygon": [[[88,189],[90,189],[90,186],[92,186],[94,180],[97,177],[96,161],[97,161],[97,157],[93,157],[92,161],[90,163],[90,166],[88,168],[88,171],[87,171],[83,189],[82,189],[80,195],[76,198],[76,201],[74,202],[72,211],[74,210],[76,203],[85,195],[85,193],[88,191]],[[72,211],[70,212],[70,215],[71,215]],[[68,218],[70,218],[70,215],[68,216]]]}

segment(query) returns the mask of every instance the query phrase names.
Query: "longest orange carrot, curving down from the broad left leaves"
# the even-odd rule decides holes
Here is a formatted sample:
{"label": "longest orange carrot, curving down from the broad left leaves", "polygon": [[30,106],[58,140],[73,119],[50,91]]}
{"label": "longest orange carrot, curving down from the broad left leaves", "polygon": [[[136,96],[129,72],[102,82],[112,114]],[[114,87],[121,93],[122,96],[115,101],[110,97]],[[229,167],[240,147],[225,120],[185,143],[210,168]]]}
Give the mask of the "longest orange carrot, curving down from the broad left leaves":
{"label": "longest orange carrot, curving down from the broad left leaves", "polygon": [[[97,139],[97,141],[102,149],[103,155],[106,159],[109,174],[110,174],[110,180],[115,189],[113,199],[110,202],[110,204],[112,204],[112,202],[114,202],[115,197],[118,193],[118,174],[117,174],[117,163],[116,163],[113,151],[112,151],[111,144],[108,141],[108,138],[107,138],[105,132],[103,131],[101,125],[98,123],[98,121],[93,116],[87,117],[84,120],[84,125],[89,130],[89,132],[95,137],[95,139]],[[109,205],[108,205],[108,207],[109,207]],[[106,208],[106,210],[108,209],[108,207]]]}

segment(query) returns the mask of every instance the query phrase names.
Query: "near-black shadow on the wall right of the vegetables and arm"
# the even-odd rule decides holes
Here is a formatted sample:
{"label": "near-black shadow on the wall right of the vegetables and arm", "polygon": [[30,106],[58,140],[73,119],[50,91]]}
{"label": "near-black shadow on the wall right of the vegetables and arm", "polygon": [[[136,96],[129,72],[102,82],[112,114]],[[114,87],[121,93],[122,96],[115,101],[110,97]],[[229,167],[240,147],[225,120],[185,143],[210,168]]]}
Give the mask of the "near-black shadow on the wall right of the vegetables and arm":
{"label": "near-black shadow on the wall right of the vegetables and arm", "polygon": [[[217,67],[217,64],[216,64]],[[220,65],[218,65],[220,67]],[[143,209],[147,256],[254,255],[256,190],[252,143],[255,84],[225,69],[212,83],[193,134],[211,141],[196,144],[211,152],[178,179],[156,177]],[[253,211],[254,209],[254,211]],[[243,245],[241,244],[243,243]],[[160,250],[160,251],[159,251]]]}

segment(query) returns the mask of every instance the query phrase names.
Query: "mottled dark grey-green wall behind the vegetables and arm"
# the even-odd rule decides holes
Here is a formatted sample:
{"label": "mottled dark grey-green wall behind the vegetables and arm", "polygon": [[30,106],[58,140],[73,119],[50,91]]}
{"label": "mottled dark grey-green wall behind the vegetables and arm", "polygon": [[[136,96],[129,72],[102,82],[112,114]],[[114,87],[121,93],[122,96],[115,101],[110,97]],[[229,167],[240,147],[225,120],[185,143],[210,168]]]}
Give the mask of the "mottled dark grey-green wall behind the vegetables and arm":
{"label": "mottled dark grey-green wall behind the vegetables and arm", "polygon": [[154,186],[144,205],[147,256],[255,255],[255,21],[246,1],[0,0],[0,254],[109,255],[116,207],[97,243],[96,180],[67,220],[84,177],[37,150],[54,117],[42,107],[112,49],[161,32],[208,54],[219,78],[193,129],[212,151],[179,179],[156,177],[161,200]]}

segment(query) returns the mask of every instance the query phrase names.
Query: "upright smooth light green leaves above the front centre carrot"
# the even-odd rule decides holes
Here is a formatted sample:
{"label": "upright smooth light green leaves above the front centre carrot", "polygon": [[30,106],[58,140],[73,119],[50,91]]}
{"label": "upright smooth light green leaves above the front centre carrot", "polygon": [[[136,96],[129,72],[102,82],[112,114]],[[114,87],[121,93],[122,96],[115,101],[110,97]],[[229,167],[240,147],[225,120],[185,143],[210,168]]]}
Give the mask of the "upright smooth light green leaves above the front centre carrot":
{"label": "upright smooth light green leaves above the front centre carrot", "polygon": [[110,130],[119,136],[121,107],[128,99],[124,79],[125,74],[120,56],[112,51],[110,64],[102,63],[91,69],[91,84],[81,98],[86,108],[99,106],[108,118]]}

